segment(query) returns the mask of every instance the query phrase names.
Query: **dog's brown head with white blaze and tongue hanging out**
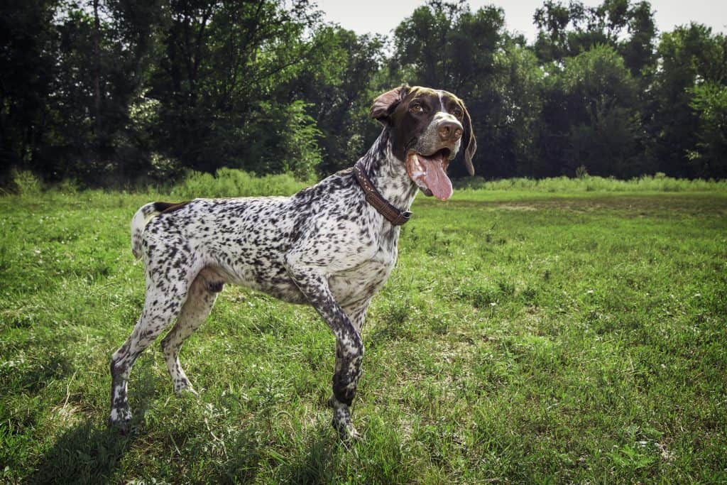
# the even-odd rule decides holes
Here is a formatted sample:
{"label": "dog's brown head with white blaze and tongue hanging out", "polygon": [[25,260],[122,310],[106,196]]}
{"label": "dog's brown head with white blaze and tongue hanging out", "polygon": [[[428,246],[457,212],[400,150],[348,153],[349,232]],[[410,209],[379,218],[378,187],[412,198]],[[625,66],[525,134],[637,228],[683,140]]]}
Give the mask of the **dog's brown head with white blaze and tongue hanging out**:
{"label": "dog's brown head with white blaze and tongue hanging out", "polygon": [[377,97],[371,117],[390,127],[394,156],[427,196],[449,199],[452,184],[446,169],[463,145],[465,167],[475,175],[477,142],[470,113],[451,92],[405,84]]}

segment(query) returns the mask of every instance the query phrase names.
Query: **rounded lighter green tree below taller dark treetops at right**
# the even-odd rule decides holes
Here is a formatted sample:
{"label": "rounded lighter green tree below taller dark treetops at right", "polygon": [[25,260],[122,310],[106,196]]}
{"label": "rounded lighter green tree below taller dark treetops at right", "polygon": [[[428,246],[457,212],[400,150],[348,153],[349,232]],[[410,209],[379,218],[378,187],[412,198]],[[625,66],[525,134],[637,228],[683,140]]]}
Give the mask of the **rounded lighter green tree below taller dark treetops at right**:
{"label": "rounded lighter green tree below taller dark treetops at right", "polygon": [[547,76],[540,156],[548,175],[630,177],[644,169],[638,85],[612,47],[600,46],[553,66]]}

